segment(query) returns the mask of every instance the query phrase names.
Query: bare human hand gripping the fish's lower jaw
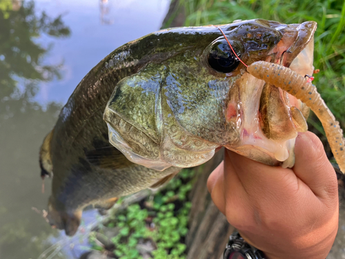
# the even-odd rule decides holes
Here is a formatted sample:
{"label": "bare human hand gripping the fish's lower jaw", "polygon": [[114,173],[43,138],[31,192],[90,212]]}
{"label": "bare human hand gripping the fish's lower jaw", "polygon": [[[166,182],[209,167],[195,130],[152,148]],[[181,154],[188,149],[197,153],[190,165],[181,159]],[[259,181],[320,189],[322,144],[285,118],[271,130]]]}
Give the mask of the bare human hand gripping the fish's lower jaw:
{"label": "bare human hand gripping the fish's lower jaw", "polygon": [[225,151],[208,191],[242,238],[269,259],[324,259],[338,227],[337,176],[319,138],[299,133],[283,169]]}

